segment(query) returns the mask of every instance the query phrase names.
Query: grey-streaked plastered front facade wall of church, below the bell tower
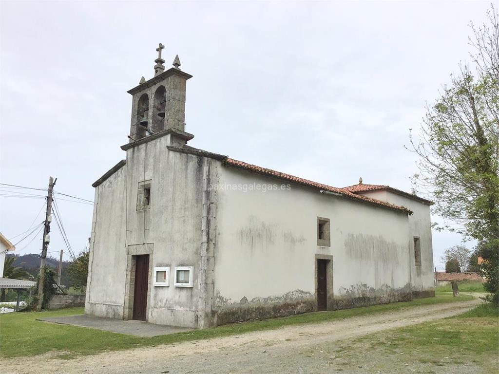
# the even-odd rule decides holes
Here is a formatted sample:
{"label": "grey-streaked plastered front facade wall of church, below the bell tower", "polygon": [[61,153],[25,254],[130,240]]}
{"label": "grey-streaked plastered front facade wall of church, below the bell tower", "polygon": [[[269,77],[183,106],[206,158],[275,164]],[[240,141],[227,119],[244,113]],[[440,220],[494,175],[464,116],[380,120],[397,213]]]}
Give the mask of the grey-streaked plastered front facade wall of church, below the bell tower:
{"label": "grey-streaked plastered front facade wall of church, below the bell tower", "polygon": [[[170,152],[168,142],[129,149],[126,165],[96,188],[86,313],[126,318],[129,247],[147,245],[151,268],[170,266],[169,287],[155,287],[149,274],[147,321],[197,327],[203,159]],[[139,182],[147,180],[150,208],[137,211]],[[194,266],[194,287],[174,286],[176,266]]]}

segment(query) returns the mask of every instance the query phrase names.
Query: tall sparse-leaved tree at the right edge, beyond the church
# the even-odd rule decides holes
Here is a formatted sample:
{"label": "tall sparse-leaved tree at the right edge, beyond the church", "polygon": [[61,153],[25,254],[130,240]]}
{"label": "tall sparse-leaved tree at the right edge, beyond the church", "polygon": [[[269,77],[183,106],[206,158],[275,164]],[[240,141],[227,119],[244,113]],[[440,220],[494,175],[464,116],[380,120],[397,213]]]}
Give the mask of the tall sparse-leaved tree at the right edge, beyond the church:
{"label": "tall sparse-leaved tree at the right edge, beyond the church", "polygon": [[427,115],[412,150],[420,173],[414,188],[435,201],[433,212],[457,231],[477,241],[483,257],[489,299],[498,303],[499,288],[499,16],[494,6],[488,23],[471,24],[474,71],[462,65],[451,75]]}

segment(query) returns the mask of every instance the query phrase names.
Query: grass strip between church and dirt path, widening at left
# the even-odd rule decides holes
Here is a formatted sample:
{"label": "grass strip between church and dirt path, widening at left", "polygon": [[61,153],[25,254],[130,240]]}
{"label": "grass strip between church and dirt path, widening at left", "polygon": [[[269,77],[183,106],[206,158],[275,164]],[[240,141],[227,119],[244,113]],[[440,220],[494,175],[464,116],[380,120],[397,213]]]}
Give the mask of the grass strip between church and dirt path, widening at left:
{"label": "grass strip between church and dirt path, widening at left", "polygon": [[0,356],[33,356],[57,351],[61,358],[77,355],[92,355],[103,351],[115,351],[136,347],[171,344],[176,342],[215,338],[257,330],[276,329],[285,325],[317,323],[338,318],[361,316],[373,313],[400,310],[419,305],[431,305],[467,301],[473,297],[461,294],[454,298],[452,293],[437,293],[434,298],[409,302],[374,305],[365,308],[338,310],[332,312],[307,313],[297,316],[226,325],[206,330],[164,335],[154,338],[139,338],[83,327],[57,325],[35,321],[36,318],[82,314],[83,308],[71,308],[46,312],[18,312],[0,317]]}

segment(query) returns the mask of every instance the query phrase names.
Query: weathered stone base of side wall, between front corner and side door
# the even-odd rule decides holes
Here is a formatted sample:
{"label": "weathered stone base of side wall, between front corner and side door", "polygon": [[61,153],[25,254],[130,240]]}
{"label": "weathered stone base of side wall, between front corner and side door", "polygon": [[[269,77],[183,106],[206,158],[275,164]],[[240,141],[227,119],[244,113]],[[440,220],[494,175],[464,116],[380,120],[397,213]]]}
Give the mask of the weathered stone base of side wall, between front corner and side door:
{"label": "weathered stone base of side wall, between front corner and side door", "polygon": [[234,322],[286,317],[315,311],[317,311],[317,303],[315,300],[302,300],[292,303],[250,304],[218,311],[216,325],[220,326]]}

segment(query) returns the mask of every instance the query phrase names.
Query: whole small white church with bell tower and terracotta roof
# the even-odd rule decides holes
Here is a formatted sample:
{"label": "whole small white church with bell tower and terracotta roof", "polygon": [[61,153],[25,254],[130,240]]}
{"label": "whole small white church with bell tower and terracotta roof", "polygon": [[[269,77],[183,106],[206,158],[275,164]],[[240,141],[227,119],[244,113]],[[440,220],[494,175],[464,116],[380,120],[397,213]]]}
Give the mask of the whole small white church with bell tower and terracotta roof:
{"label": "whole small white church with bell tower and terracotta roof", "polygon": [[188,146],[192,76],[155,62],[125,159],[92,185],[86,314],[205,328],[434,295],[431,201]]}

